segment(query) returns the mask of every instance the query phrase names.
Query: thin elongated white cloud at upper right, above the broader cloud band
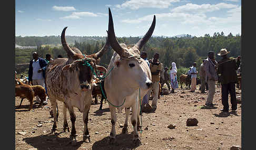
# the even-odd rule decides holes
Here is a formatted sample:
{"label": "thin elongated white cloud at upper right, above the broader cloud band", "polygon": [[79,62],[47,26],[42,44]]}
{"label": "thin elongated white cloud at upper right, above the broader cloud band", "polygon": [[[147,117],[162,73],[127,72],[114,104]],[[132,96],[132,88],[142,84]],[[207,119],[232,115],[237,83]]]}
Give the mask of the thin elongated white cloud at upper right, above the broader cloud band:
{"label": "thin elongated white cloud at upper right, above the broader cloud band", "polygon": [[206,12],[214,12],[216,10],[225,9],[225,8],[235,8],[237,5],[219,3],[215,5],[211,4],[186,4],[179,7],[176,7],[171,10],[173,13],[206,13]]}

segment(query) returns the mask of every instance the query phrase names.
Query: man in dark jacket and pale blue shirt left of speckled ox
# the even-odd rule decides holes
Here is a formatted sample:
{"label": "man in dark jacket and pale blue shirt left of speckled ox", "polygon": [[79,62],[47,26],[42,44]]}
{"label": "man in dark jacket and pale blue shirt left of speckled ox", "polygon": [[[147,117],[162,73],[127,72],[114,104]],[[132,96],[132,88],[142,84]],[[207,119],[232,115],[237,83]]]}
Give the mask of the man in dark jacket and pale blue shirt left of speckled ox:
{"label": "man in dark jacket and pale blue shirt left of speckled ox", "polygon": [[[37,52],[32,53],[33,59],[29,62],[28,69],[28,82],[32,85],[42,85],[45,88],[44,78],[47,62],[45,59],[38,57]],[[36,96],[36,103],[40,103],[40,99]],[[43,105],[46,105],[47,101],[43,102]]]}

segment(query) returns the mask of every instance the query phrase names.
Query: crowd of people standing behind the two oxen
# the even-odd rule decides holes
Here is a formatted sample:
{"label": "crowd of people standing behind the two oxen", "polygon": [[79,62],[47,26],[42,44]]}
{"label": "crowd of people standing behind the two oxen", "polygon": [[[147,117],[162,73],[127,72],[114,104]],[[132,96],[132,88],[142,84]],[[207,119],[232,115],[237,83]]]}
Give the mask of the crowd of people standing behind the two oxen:
{"label": "crowd of people standing behind the two oxen", "polygon": [[[227,49],[221,49],[218,53],[218,56],[221,56],[222,59],[217,62],[214,58],[214,52],[208,52],[208,58],[204,59],[199,67],[199,72],[196,70],[196,62],[192,64],[192,67],[186,72],[188,78],[191,78],[191,88],[190,92],[195,92],[196,89],[196,78],[200,76],[201,93],[205,93],[208,90],[208,95],[205,101],[205,106],[212,107],[213,98],[215,94],[215,82],[218,81],[218,74],[221,74],[221,95],[222,95],[222,105],[223,109],[221,111],[229,111],[228,95],[230,93],[231,97],[231,110],[237,110],[237,99],[235,95],[235,83],[237,82],[237,73],[241,73],[240,65],[240,56],[237,59],[229,58]],[[45,59],[38,57],[37,52],[32,53],[33,59],[29,62],[28,70],[28,83],[32,85],[42,85],[45,88],[46,94],[47,89],[45,85],[45,70],[47,64],[53,60],[50,54],[46,54]],[[152,88],[147,92],[147,94],[142,99],[142,110],[144,108],[150,108],[151,111],[157,109],[157,100],[159,99],[159,88],[163,88],[163,85],[166,84],[168,87],[168,93],[175,93],[175,89],[179,88],[179,83],[177,79],[178,69],[176,63],[172,62],[170,69],[168,67],[163,68],[163,64],[159,60],[159,53],[155,53],[152,59],[147,59],[147,53],[145,51],[141,52],[141,58],[144,59],[147,65],[150,67],[152,75]],[[61,55],[58,58],[63,58]],[[161,71],[163,71],[161,73]],[[238,71],[238,72],[237,72]],[[102,72],[100,73],[101,75]],[[15,71],[16,76],[16,71]],[[162,77],[161,77],[162,76]],[[16,78],[16,77],[15,77]],[[161,86],[159,85],[161,84]],[[149,99],[151,91],[153,90],[153,100],[151,105],[149,104]],[[48,94],[47,94],[48,95]],[[36,97],[36,103],[40,103],[40,98]],[[46,105],[46,101],[43,102],[43,105]],[[147,109],[148,110],[148,109]]]}

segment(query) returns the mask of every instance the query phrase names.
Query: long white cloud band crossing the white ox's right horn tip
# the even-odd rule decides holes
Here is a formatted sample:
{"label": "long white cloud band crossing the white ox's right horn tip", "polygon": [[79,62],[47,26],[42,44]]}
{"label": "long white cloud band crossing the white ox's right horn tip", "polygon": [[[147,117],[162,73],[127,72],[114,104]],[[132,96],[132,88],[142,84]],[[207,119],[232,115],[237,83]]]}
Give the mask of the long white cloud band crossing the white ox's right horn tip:
{"label": "long white cloud band crossing the white ox's right horn tip", "polygon": [[[207,17],[204,13],[188,13],[188,12],[174,11],[172,13],[147,15],[137,19],[129,19],[129,18],[123,19],[121,20],[121,22],[127,23],[127,24],[139,24],[145,21],[152,22],[153,15],[155,15],[156,23],[171,22],[173,24],[180,24],[180,25],[191,25],[191,26],[197,26],[197,27],[215,26],[217,28],[224,27],[224,26],[231,26],[231,25],[241,26],[241,6],[234,7],[235,5],[227,6],[222,4],[221,5],[216,4],[215,6],[219,6],[218,8],[232,7],[232,9],[227,10],[227,14],[223,15],[223,17],[214,17],[214,16]],[[208,8],[211,9],[211,7],[208,7]],[[175,10],[178,10],[178,9],[175,9]],[[209,11],[209,10],[206,10],[206,8],[204,8],[203,12],[206,12],[206,11]]]}

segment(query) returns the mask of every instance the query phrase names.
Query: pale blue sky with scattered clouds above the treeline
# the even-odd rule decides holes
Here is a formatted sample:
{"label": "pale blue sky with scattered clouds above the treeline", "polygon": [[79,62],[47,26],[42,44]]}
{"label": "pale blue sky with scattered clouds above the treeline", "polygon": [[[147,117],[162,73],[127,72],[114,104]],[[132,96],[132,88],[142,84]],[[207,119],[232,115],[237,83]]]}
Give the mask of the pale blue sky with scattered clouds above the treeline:
{"label": "pale blue sky with scattered clouds above the treeline", "polygon": [[106,36],[110,7],[117,37],[241,35],[241,0],[15,1],[15,36]]}

